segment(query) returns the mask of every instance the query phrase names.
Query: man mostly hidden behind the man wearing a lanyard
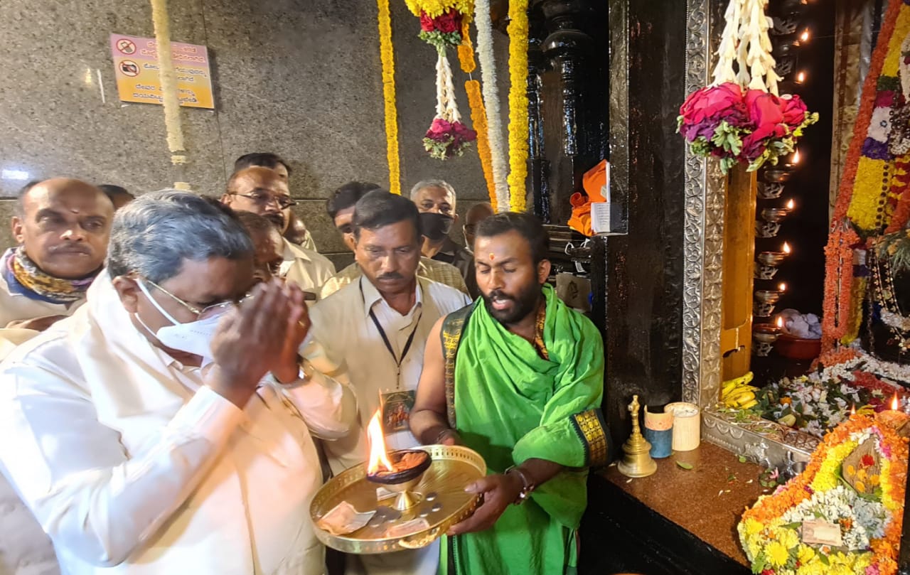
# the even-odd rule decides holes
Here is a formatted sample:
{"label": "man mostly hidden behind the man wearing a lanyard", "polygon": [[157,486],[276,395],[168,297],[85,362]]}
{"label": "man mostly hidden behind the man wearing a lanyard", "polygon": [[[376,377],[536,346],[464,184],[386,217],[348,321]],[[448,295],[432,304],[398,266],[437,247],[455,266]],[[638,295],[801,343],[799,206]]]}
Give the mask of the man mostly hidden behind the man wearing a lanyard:
{"label": "man mostly hidden behind the man wearing a lanyard", "polygon": [[[374,189],[380,189],[379,185],[369,182],[348,182],[332,192],[329,199],[326,200],[326,211],[329,212],[329,217],[332,218],[335,228],[339,230],[345,247],[348,247],[351,251],[354,251],[356,246],[354,228],[351,225],[351,219],[354,217],[354,206],[357,205],[361,197],[364,197],[367,192]],[[421,256],[420,264],[417,266],[417,275],[468,293],[468,287],[464,284],[461,272],[451,264]],[[328,298],[360,276],[360,266],[357,262],[354,262],[329,279],[322,286],[319,297]]]}

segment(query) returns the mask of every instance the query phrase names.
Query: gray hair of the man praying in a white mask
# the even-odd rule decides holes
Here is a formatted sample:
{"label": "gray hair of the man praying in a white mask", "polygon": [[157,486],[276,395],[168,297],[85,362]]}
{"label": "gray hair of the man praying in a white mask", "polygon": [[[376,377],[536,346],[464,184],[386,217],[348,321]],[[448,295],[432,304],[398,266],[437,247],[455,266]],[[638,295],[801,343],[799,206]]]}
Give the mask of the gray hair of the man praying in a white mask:
{"label": "gray hair of the man praying in a white mask", "polygon": [[165,189],[137,197],[114,216],[107,272],[136,272],[159,284],[183,262],[253,256],[253,242],[234,212],[214,197]]}

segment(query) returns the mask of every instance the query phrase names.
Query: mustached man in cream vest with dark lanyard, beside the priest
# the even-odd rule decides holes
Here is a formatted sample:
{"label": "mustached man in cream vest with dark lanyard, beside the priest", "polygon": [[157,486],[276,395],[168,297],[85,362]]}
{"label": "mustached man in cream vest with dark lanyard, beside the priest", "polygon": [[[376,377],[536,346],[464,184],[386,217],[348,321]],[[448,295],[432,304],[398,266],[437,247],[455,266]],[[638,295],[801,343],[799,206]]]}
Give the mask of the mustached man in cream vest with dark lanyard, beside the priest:
{"label": "mustached man in cream vest with dark lanyard, beside the priest", "polygon": [[[416,275],[418,218],[417,207],[407,198],[382,190],[360,198],[352,226],[363,276],[310,310],[313,337],[333,361],[347,367],[358,396],[361,426],[365,428],[381,407],[389,449],[420,445],[410,433],[407,418],[387,416],[400,414],[401,409],[407,413],[413,406],[433,324],[470,304],[459,290]],[[326,451],[336,473],[367,455],[363,434],[327,444]],[[439,545],[359,559],[351,558],[349,573],[430,575],[439,563]]]}

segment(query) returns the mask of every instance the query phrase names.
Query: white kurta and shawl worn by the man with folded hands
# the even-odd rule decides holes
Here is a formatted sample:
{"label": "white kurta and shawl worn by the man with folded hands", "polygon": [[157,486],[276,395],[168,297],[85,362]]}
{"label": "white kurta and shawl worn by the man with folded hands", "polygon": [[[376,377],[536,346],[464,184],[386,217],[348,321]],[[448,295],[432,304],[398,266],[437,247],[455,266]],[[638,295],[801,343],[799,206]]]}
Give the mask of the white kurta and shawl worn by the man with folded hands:
{"label": "white kurta and shawl worn by the man with folded hands", "polygon": [[64,573],[321,573],[310,430],[339,438],[357,408],[318,344],[304,355],[319,371],[307,383],[264,385],[238,409],[147,342],[106,276],[17,348],[0,372],[0,461]]}

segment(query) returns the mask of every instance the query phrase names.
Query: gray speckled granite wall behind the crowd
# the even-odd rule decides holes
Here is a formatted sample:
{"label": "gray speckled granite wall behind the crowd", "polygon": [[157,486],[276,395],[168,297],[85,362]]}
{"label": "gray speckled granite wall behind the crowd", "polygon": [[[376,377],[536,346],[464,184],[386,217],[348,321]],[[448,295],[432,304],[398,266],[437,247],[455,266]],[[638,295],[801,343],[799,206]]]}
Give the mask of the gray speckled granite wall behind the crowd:
{"label": "gray speckled granite wall behind the crowd", "polygon": [[[73,176],[135,192],[184,180],[220,194],[234,159],[274,151],[294,169],[291,191],[319,251],[346,264],[325,214],[329,191],[350,179],[388,184],[377,8],[362,0],[181,0],[170,2],[171,39],[207,45],[216,110],[181,110],[186,171],[170,165],[161,106],[121,103],[108,35],[153,36],[145,0],[0,3],[0,217],[27,179]],[[401,183],[449,180],[459,211],[486,198],[477,154],[440,162],[426,155],[423,132],[435,113],[435,51],[419,23],[393,0]],[[507,38],[494,33],[497,59]],[[470,117],[455,71],[460,108]],[[504,68],[505,66],[501,66]],[[505,74],[501,74],[505,77]],[[508,79],[501,86],[505,96]],[[8,226],[0,244],[10,245]]]}

